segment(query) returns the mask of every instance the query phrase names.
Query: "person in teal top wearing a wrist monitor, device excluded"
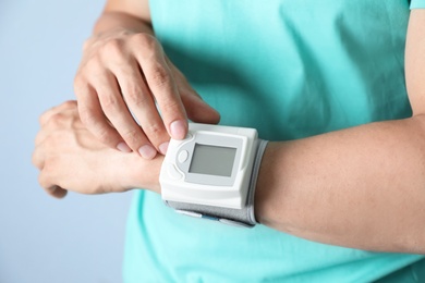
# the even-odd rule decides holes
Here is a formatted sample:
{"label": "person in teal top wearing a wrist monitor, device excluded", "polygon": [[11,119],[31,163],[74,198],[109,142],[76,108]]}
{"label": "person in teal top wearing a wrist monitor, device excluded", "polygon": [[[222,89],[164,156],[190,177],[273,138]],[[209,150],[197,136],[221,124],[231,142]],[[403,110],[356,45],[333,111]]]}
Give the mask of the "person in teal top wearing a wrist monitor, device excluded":
{"label": "person in teal top wearing a wrist monitor, device excluded", "polygon": [[277,140],[256,185],[262,225],[187,219],[139,189],[126,282],[418,274],[425,12],[416,8],[425,2],[411,8],[401,0],[110,0],[84,47],[78,102],[40,119],[39,182],[57,197],[68,189],[160,194],[170,136],[183,138],[187,119],[221,115],[222,124]]}

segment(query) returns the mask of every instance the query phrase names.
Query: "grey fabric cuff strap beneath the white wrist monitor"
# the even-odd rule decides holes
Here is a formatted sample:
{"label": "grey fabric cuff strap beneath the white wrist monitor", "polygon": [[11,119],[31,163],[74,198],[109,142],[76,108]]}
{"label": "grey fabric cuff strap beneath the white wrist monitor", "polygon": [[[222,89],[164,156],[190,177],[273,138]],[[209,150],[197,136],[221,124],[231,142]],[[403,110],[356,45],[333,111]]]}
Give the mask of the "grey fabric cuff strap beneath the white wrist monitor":
{"label": "grey fabric cuff strap beneath the white wrist monitor", "polygon": [[165,202],[175,209],[177,212],[209,220],[216,220],[221,223],[238,225],[238,226],[247,226],[253,227],[258,222],[255,219],[254,211],[254,198],[255,198],[255,187],[257,184],[257,177],[259,172],[259,167],[262,163],[263,155],[266,149],[268,140],[258,139],[257,140],[257,150],[254,159],[253,170],[251,174],[250,187],[246,196],[246,205],[242,209],[232,209],[232,208],[222,208],[222,207],[212,207],[195,204],[185,204],[178,201],[166,200]]}

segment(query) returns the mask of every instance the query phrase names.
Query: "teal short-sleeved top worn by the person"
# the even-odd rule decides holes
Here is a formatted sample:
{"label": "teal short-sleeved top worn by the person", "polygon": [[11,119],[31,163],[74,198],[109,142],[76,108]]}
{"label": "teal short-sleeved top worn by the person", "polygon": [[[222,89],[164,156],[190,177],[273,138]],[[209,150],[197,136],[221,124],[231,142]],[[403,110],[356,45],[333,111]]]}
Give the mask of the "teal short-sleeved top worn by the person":
{"label": "teal short-sleeved top worn by the person", "polygon": [[[166,53],[221,124],[289,140],[412,114],[403,58],[410,4],[425,8],[418,0],[151,0],[150,11]],[[123,273],[127,283],[420,282],[422,259],[192,219],[137,190]]]}

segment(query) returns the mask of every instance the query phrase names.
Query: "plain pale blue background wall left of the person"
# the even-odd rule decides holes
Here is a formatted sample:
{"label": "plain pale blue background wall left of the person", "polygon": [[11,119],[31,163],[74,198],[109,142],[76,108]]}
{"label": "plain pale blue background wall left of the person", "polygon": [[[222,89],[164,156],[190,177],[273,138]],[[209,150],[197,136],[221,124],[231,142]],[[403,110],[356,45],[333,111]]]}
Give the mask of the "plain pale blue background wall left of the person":
{"label": "plain pale blue background wall left of the person", "polygon": [[31,163],[39,114],[73,99],[104,0],[0,0],[0,282],[121,282],[131,194],[47,196]]}

